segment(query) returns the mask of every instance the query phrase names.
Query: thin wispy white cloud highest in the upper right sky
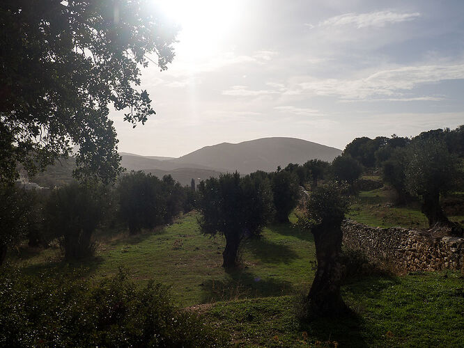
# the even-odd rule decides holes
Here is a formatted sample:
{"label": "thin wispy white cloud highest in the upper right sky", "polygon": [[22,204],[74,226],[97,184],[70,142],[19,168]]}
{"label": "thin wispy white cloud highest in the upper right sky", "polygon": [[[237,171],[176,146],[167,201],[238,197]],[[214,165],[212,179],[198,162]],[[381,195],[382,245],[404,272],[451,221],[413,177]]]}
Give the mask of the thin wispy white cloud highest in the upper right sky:
{"label": "thin wispy white cloud highest in the upper right sky", "polygon": [[411,21],[419,17],[420,13],[396,13],[389,10],[376,11],[371,13],[345,13],[326,19],[320,22],[320,26],[344,26],[353,25],[357,29],[369,26],[382,27],[386,24],[393,24]]}

